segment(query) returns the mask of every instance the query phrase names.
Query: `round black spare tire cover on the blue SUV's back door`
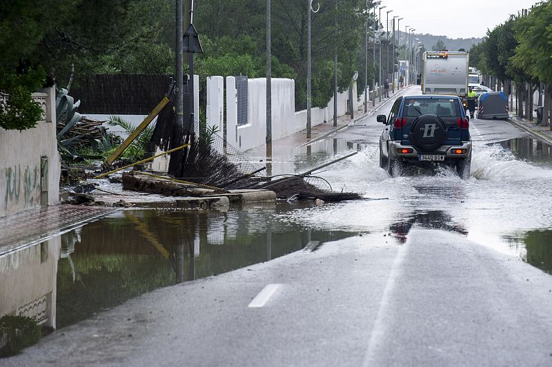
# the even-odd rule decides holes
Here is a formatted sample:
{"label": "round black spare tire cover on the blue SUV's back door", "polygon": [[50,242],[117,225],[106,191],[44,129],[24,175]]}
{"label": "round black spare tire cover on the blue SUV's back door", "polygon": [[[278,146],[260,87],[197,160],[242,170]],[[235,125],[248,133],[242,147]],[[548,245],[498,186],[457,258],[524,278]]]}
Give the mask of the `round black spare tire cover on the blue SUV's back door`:
{"label": "round black spare tire cover on the blue SUV's back door", "polygon": [[422,115],[411,125],[412,143],[420,150],[440,147],[446,140],[446,123],[435,115]]}

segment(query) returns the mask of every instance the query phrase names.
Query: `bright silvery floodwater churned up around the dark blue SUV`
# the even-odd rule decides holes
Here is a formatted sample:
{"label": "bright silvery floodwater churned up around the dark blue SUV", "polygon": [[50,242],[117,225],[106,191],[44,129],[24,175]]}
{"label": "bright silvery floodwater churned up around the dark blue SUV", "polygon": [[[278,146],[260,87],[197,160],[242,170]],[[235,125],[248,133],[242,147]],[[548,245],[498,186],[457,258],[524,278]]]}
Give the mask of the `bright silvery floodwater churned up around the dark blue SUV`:
{"label": "bright silvery floodwater churned up around the dark blue SUV", "polygon": [[[322,176],[367,200],[282,213],[290,222],[346,231],[390,232],[406,241],[413,227],[442,229],[520,258],[552,267],[552,147],[531,138],[477,142],[471,178],[452,169],[409,169],[390,177],[377,145],[332,166]],[[353,215],[354,214],[354,215]]]}

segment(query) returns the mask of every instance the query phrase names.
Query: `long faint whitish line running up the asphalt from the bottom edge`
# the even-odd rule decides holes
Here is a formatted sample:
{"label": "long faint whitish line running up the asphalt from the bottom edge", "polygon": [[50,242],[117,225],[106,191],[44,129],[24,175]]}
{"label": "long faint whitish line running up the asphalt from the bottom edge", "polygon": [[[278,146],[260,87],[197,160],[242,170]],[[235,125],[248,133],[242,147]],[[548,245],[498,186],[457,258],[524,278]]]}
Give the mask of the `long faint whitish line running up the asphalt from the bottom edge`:
{"label": "long faint whitish line running up the asphalt from the bottom edge", "polygon": [[368,341],[368,348],[366,348],[366,354],[364,355],[364,367],[373,366],[373,361],[375,357],[375,352],[380,346],[382,339],[385,336],[386,326],[384,324],[383,318],[385,316],[388,306],[391,305],[391,293],[397,284],[397,278],[401,274],[401,266],[406,258],[406,253],[408,252],[408,241],[406,241],[397,251],[397,257],[393,261],[391,266],[391,271],[389,272],[389,277],[385,284],[384,294],[382,296],[382,302],[380,302],[380,309],[377,310],[377,317],[372,327],[372,333],[370,333],[370,340]]}

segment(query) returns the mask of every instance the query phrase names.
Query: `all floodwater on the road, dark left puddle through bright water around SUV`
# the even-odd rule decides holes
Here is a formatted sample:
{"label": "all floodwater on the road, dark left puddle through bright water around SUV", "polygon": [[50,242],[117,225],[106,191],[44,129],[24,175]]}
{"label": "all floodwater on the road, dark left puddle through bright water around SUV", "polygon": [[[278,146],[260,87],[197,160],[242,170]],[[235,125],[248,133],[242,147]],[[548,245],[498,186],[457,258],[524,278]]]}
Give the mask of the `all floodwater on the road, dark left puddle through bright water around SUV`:
{"label": "all floodwater on the road, dark left puddle through bright water around SUV", "polygon": [[[50,326],[63,328],[154,289],[266,262],[310,241],[324,246],[366,233],[391,235],[402,244],[413,229],[460,233],[552,273],[551,146],[505,121],[472,120],[469,180],[445,168],[411,169],[391,178],[378,166],[382,127],[371,116],[325,140],[273,155],[276,175],[358,151],[316,172],[324,180],[311,182],[328,189],[327,181],[334,191],[362,193],[366,200],[209,212],[117,211],[1,257],[3,285],[14,300],[34,300],[29,305],[40,308]],[[48,264],[40,270],[48,291],[37,297],[19,286],[20,264],[35,270]]]}

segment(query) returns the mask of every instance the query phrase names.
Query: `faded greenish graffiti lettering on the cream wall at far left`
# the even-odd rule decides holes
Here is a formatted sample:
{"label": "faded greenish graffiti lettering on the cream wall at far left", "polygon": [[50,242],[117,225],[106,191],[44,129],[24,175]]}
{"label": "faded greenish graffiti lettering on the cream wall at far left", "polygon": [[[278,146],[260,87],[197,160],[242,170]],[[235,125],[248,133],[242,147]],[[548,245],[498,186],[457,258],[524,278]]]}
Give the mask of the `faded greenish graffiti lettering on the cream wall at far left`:
{"label": "faded greenish graffiti lettering on the cream wall at far left", "polygon": [[12,206],[30,209],[40,205],[40,165],[27,165],[21,169],[21,165],[7,167],[4,175],[0,174],[0,184],[4,178],[5,190],[3,192],[4,209]]}

